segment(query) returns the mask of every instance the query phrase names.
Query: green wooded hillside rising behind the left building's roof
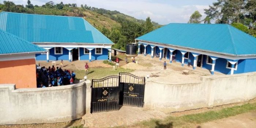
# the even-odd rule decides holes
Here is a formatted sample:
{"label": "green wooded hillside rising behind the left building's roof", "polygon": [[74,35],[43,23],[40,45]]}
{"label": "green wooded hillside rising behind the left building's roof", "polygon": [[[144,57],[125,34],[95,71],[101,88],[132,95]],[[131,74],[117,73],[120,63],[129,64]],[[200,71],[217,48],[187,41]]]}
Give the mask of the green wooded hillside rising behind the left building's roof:
{"label": "green wooded hillside rising behind the left building's roof", "polygon": [[125,50],[126,44],[134,42],[134,39],[140,35],[161,27],[158,23],[151,22],[149,17],[146,21],[139,20],[118,11],[89,7],[86,4],[78,7],[76,4],[64,4],[63,2],[55,4],[49,1],[38,6],[28,0],[24,7],[11,1],[3,1],[0,4],[0,11],[83,17],[111,39],[115,43],[114,48],[122,50]]}

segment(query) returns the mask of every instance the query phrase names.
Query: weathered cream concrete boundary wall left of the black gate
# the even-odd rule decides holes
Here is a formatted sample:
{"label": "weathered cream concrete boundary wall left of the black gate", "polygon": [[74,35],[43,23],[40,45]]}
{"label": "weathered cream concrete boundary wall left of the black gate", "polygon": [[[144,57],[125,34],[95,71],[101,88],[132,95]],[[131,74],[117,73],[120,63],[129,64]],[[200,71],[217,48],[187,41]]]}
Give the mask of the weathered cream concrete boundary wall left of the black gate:
{"label": "weathered cream concrete boundary wall left of the black gate", "polygon": [[16,89],[0,84],[0,124],[57,123],[86,113],[86,89],[90,80],[67,86]]}

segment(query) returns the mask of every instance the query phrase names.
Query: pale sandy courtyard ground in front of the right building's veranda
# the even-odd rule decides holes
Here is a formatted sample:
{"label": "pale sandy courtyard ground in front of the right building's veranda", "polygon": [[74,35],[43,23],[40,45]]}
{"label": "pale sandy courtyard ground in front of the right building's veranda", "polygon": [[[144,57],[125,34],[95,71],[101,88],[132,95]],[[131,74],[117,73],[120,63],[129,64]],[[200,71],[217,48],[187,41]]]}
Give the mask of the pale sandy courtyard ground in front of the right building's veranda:
{"label": "pale sandy courtyard ground in front of the right building's veranda", "polygon": [[[210,71],[206,69],[201,69],[196,67],[196,70],[193,70],[193,67],[188,67],[186,64],[184,67],[181,67],[181,63],[173,62],[169,63],[169,60],[162,59],[159,61],[159,58],[153,58],[149,55],[143,56],[140,54],[135,57],[138,61],[138,64],[128,63],[123,65],[123,68],[135,69],[132,74],[137,76],[147,76],[155,75],[156,77],[150,77],[149,80],[154,80],[155,82],[161,83],[192,83],[192,82],[201,82],[200,76],[211,75]],[[131,60],[130,60],[131,61]],[[163,63],[166,61],[167,69],[163,70]],[[188,70],[189,75],[182,74],[183,70]],[[215,75],[221,75],[218,72],[215,72]]]}

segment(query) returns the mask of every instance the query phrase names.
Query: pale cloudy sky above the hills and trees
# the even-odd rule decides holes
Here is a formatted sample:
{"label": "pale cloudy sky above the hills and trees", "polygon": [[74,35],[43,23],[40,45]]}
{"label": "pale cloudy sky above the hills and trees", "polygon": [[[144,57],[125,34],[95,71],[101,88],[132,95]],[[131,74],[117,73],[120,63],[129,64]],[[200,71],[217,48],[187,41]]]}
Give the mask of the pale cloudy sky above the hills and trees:
{"label": "pale cloudy sky above the hills and trees", "polygon": [[[0,0],[3,3],[3,0]],[[27,4],[27,0],[10,0],[15,4]],[[50,0],[30,0],[33,5],[43,5]],[[87,4],[91,7],[117,10],[123,14],[151,21],[161,25],[168,23],[187,23],[193,12],[198,10],[205,18],[204,9],[209,8],[217,0],[52,0],[55,4],[63,1],[64,4]]]}

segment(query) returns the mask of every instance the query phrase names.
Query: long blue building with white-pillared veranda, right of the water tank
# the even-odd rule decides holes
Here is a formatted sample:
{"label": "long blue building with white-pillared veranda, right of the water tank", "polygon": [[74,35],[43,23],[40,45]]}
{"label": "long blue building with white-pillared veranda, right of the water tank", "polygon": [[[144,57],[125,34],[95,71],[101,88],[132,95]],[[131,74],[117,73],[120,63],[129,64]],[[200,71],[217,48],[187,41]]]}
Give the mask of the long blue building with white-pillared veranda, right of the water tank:
{"label": "long blue building with white-pillared veranda, right of the water tank", "polygon": [[135,39],[138,51],[223,74],[256,71],[256,38],[227,24],[170,23]]}

